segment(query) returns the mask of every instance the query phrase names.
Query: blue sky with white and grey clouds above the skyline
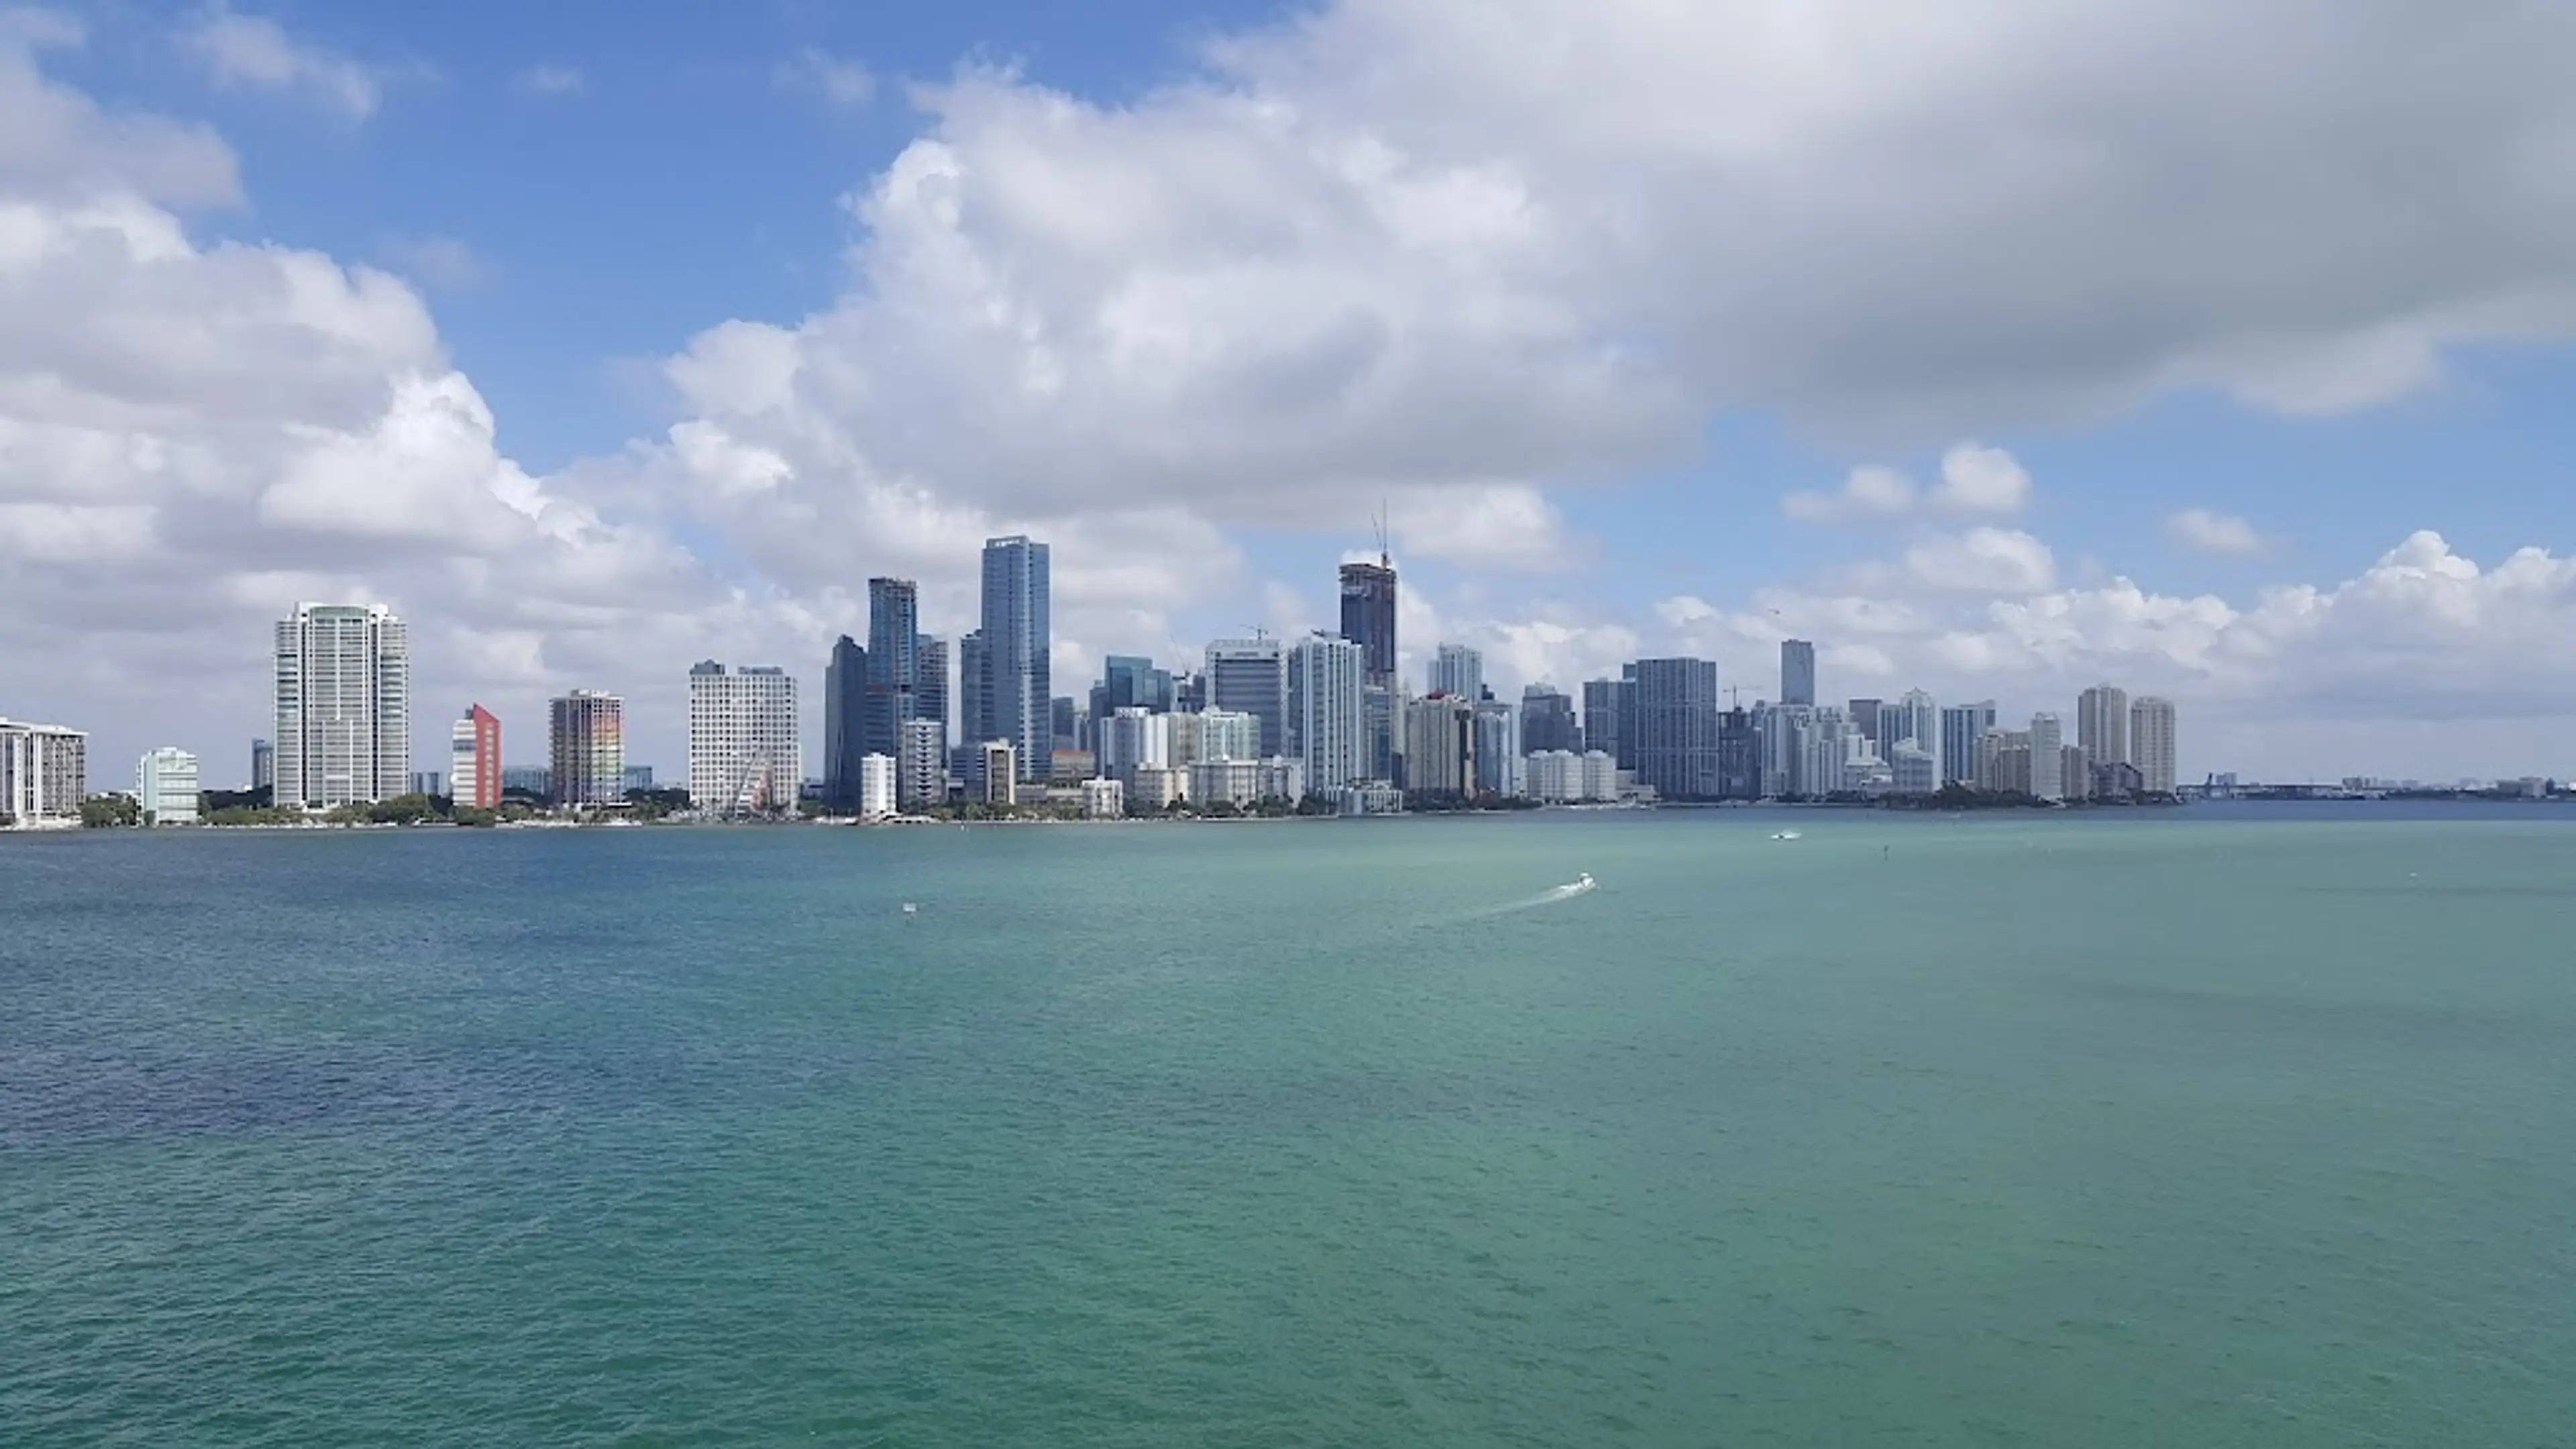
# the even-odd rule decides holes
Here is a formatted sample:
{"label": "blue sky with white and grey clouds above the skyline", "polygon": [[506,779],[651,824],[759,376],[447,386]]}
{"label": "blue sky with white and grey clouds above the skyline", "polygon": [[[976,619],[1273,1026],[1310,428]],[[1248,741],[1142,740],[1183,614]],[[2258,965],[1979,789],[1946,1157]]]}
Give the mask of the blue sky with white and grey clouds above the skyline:
{"label": "blue sky with white and grey clouds above the skyline", "polygon": [[971,627],[2182,706],[2187,776],[2576,773],[2576,8],[0,10],[0,714],[247,773],[268,624],[495,706]]}

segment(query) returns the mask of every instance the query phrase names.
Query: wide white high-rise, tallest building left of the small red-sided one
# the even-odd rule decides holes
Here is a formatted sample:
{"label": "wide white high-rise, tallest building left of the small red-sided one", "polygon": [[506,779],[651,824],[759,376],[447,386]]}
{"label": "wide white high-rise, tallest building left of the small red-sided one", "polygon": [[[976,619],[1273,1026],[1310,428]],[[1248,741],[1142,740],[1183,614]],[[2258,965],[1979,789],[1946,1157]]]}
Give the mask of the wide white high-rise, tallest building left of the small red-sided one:
{"label": "wide white high-rise, tallest building left of the small red-sided one", "polygon": [[276,804],[330,810],[412,784],[412,639],[389,608],[296,603],[276,629]]}

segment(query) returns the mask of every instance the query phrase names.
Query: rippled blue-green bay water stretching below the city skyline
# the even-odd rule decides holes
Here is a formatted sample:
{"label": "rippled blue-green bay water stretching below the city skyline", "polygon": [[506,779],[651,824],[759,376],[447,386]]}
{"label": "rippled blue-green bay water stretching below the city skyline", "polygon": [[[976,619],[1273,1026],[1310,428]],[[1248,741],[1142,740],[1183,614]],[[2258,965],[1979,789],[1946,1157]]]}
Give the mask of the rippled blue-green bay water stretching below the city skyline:
{"label": "rippled blue-green bay water stretching below the city skyline", "polygon": [[10,838],[0,1441],[2568,1444],[2571,928],[2506,810]]}

